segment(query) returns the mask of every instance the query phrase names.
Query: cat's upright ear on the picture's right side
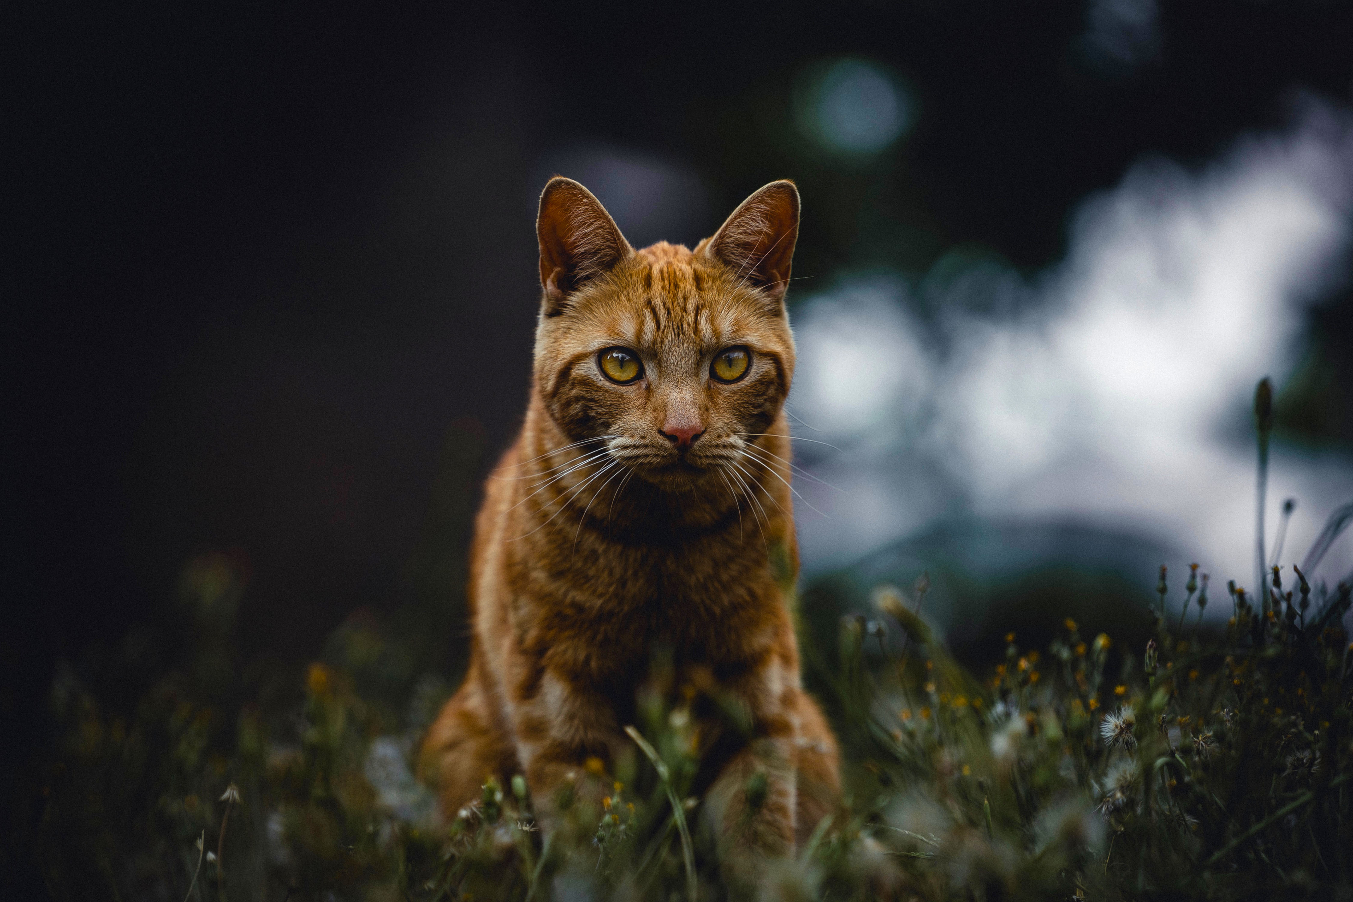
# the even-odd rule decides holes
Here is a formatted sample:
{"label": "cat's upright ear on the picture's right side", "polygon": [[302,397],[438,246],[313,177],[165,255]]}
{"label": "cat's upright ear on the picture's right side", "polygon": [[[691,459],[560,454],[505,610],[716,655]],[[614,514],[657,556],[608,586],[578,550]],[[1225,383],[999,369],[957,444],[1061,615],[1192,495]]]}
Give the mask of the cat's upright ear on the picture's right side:
{"label": "cat's upright ear on the picture's right side", "polygon": [[789,288],[798,241],[798,188],[782,179],[759,188],[718,227],[702,252],[777,302]]}

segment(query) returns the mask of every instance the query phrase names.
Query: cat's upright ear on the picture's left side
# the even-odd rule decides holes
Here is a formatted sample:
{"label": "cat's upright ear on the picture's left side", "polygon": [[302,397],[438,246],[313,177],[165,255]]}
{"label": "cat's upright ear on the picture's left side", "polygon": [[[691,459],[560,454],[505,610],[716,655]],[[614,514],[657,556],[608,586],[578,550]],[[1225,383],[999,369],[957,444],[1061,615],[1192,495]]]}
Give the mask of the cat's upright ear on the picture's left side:
{"label": "cat's upright ear on the picture's left side", "polygon": [[540,195],[536,237],[547,316],[564,312],[568,296],[584,281],[635,253],[601,201],[563,176],[551,179]]}

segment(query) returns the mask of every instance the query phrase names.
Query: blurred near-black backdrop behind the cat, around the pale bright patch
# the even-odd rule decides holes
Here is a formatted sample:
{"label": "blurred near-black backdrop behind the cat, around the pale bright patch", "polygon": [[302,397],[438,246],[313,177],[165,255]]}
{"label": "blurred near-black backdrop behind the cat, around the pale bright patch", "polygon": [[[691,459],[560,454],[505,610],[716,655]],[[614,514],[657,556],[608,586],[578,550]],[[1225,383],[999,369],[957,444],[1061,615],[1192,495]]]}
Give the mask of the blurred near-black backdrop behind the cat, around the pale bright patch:
{"label": "blurred near-black backdrop behind the cat, around the pale bright patch", "polygon": [[[1142,9],[1154,24],[1134,31]],[[4,20],[0,734],[16,761],[46,741],[57,661],[97,673],[153,634],[193,560],[245,586],[244,659],[299,665],[353,611],[428,606],[445,633],[428,653],[456,653],[465,519],[526,396],[553,172],[635,243],[693,243],[793,177],[809,280],[924,273],[955,247],[1035,272],[1073,206],[1134,161],[1200,162],[1281,123],[1295,92],[1353,91],[1353,7],[1325,0]],[[833,157],[796,126],[805,80],[843,57],[907,85],[886,153]],[[1311,441],[1353,441],[1349,311],[1331,296],[1306,338],[1318,377],[1289,426]]]}

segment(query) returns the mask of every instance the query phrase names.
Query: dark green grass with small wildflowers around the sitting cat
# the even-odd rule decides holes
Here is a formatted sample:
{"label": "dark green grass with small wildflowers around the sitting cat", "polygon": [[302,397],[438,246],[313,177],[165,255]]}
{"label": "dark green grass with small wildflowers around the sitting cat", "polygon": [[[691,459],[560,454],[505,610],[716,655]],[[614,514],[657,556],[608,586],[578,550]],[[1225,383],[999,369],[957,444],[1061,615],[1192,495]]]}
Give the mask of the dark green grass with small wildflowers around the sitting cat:
{"label": "dark green grass with small wildflowers around the sitting cat", "polygon": [[[1353,899],[1349,587],[1308,569],[1223,594],[1161,567],[1145,644],[1066,619],[1042,648],[1011,633],[977,669],[924,618],[927,580],[878,587],[835,646],[804,636],[846,795],[763,895]],[[717,698],[641,694],[629,755],[574,775],[603,803],[566,787],[549,836],[520,778],[442,822],[410,761],[449,684],[369,619],[323,661],[241,671],[238,591],[227,561],[189,567],[176,655],[135,692],[115,668],[58,676],[58,741],[34,782],[54,898],[727,898],[691,791],[693,710]],[[1218,604],[1224,626],[1203,617]],[[674,679],[660,655],[653,668],[655,686]]]}

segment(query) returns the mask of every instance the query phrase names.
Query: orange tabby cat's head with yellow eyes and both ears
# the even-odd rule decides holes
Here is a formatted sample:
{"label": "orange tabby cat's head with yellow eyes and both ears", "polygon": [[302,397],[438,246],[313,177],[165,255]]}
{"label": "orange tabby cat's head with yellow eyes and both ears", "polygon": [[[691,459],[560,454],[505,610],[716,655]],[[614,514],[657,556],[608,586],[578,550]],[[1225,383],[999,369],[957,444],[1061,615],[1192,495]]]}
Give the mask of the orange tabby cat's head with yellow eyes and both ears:
{"label": "orange tabby cat's head with yellow eyes and both ears", "polygon": [[694,250],[635,250],[580,184],[540,197],[534,391],[570,441],[659,485],[740,461],[777,421],[794,373],[785,312],[798,191],[773,181]]}

